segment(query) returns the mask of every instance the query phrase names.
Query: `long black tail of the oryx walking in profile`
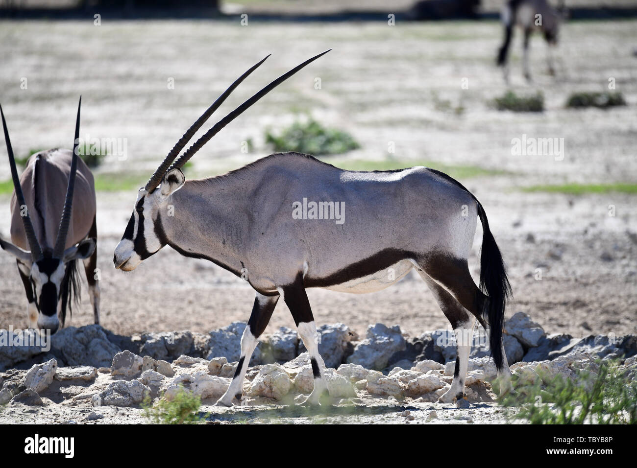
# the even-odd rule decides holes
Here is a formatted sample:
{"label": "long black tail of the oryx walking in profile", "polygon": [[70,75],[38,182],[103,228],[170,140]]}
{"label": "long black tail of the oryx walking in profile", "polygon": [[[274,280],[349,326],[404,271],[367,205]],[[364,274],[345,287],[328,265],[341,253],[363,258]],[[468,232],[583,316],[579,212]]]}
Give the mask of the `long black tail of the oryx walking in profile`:
{"label": "long black tail of the oryx walking in profile", "polygon": [[506,276],[505,262],[489,229],[489,221],[480,202],[478,216],[482,222],[482,253],[480,254],[480,290],[487,301],[482,311],[489,322],[489,346],[497,369],[504,367],[502,357],[502,330],[505,325],[506,302],[511,297],[511,285]]}

